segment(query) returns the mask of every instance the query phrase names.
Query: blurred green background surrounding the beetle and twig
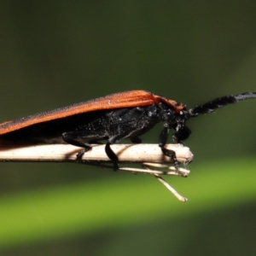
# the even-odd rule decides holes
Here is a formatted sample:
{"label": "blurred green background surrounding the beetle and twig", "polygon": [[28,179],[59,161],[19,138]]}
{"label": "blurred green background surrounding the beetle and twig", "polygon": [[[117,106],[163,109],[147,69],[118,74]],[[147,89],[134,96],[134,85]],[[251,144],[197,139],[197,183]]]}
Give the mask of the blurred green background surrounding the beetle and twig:
{"label": "blurred green background surrounding the beetle and twig", "polygon": [[[1,121],[123,90],[256,90],[255,1],[1,1]],[[256,102],[191,119],[187,179],[1,163],[0,255],[255,255]],[[157,143],[161,125],[143,136]]]}

